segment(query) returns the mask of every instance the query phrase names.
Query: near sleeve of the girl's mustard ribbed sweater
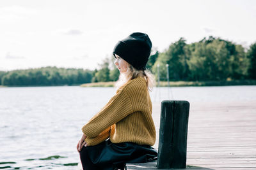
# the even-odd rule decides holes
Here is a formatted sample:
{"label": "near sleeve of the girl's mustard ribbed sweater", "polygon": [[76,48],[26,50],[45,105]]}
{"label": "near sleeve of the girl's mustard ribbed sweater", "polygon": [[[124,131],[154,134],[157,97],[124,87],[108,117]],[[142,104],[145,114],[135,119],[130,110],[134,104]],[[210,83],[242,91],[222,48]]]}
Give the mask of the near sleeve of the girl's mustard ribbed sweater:
{"label": "near sleeve of the girl's mustard ribbed sweater", "polygon": [[108,104],[82,127],[82,131],[88,139],[96,138],[105,129],[108,129],[132,112],[132,104],[127,92],[125,89],[120,89]]}

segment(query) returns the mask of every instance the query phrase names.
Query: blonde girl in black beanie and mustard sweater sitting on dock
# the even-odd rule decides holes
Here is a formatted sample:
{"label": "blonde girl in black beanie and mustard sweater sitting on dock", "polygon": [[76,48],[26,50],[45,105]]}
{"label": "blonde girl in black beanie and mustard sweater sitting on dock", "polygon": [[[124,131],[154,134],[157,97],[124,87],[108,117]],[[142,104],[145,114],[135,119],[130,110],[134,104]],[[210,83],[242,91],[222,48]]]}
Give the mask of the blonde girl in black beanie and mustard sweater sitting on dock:
{"label": "blonde girl in black beanie and mustard sweater sitting on dock", "polygon": [[86,125],[77,143],[83,169],[124,169],[127,162],[157,158],[152,103],[148,89],[154,76],[145,70],[152,43],[147,34],[134,32],[116,44],[113,55],[119,87],[108,104]]}

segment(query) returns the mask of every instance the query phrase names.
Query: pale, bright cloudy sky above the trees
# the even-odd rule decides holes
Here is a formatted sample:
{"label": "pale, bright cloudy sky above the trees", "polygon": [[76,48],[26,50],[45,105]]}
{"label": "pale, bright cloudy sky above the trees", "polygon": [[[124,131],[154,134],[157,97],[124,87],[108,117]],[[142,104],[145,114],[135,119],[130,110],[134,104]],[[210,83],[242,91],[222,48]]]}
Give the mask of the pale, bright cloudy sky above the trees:
{"label": "pale, bright cloudy sky above the trees", "polygon": [[147,33],[159,52],[181,37],[248,48],[256,42],[256,1],[1,0],[0,71],[95,69],[132,32]]}

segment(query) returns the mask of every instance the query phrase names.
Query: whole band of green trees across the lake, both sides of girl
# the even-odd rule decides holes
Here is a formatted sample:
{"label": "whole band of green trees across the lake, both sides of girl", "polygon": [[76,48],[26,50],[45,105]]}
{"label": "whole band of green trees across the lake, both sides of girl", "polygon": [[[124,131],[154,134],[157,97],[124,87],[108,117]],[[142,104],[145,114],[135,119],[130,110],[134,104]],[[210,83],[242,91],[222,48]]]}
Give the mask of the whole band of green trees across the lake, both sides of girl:
{"label": "whole band of green trees across the lake, both sides of girl", "polygon": [[[81,83],[116,81],[119,71],[115,58],[106,58],[99,69],[65,69],[41,67],[0,71],[0,83],[7,86],[79,85]],[[167,65],[168,64],[168,65]],[[147,69],[166,81],[168,69],[171,81],[256,80],[256,43],[249,49],[221,38],[204,38],[186,43],[180,38],[164,52],[152,53]]]}

